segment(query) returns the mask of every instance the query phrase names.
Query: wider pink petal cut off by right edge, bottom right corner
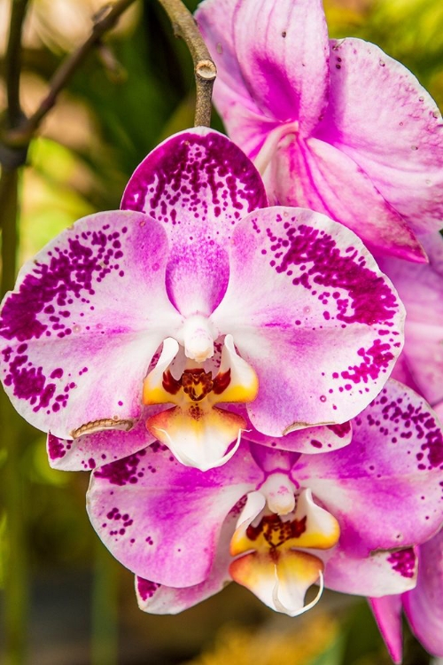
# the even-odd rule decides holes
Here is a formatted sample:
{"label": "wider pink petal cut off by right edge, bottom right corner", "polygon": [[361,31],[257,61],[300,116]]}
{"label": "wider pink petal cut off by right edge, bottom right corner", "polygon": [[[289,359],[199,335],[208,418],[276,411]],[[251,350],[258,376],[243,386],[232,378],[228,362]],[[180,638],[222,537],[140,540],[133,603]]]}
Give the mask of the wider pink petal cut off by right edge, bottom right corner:
{"label": "wider pink petal cut off by right edge, bottom right corner", "polygon": [[443,531],[418,551],[416,589],[403,596],[403,606],[417,639],[435,656],[443,656]]}

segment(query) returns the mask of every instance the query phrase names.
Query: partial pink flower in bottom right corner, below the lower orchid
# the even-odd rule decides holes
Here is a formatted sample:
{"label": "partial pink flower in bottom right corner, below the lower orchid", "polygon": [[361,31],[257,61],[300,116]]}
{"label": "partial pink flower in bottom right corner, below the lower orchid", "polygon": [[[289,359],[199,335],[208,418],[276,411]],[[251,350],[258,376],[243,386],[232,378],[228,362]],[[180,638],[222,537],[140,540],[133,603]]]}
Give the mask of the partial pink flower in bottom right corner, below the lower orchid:
{"label": "partial pink flower in bottom right corner, below the lower orchid", "polygon": [[[435,406],[435,412],[439,419],[443,418],[443,403]],[[443,521],[443,515],[440,520]],[[418,573],[413,590],[369,598],[378,628],[395,663],[401,662],[403,653],[402,610],[424,648],[434,656],[443,656],[443,530],[417,546],[416,557]]]}

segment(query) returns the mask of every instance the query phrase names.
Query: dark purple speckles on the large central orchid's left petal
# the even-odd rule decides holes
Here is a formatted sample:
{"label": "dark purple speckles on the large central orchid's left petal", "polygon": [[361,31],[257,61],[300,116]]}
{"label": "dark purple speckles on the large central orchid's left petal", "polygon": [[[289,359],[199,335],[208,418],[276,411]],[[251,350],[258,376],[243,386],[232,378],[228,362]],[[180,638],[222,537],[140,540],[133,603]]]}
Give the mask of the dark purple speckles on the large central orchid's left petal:
{"label": "dark purple speckles on the large central orchid's left petal", "polygon": [[[43,366],[35,366],[29,343],[41,340],[49,344],[90,332],[88,317],[95,309],[91,303],[97,284],[112,273],[124,276],[120,260],[128,219],[120,218],[113,226],[103,223],[96,230],[71,232],[62,242],[53,243],[45,260],[35,261],[19,288],[4,301],[0,336],[12,342],[2,349],[4,386],[28,401],[35,412],[57,413],[65,408],[77,384],[74,376],[65,376],[62,367],[45,373]],[[99,324],[94,328],[97,334],[105,334]],[[88,371],[84,365],[77,373],[82,376]]]}

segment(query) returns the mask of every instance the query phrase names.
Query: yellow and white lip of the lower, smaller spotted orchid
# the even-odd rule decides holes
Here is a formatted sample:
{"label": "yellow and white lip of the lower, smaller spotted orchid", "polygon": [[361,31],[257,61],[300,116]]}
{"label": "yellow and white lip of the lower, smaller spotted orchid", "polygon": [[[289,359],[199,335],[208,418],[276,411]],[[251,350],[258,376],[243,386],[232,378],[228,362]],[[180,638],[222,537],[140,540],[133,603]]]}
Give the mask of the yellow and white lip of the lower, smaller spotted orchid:
{"label": "yellow and white lip of the lower, smaller spotted orchid", "polygon": [[[327,511],[315,505],[310,489],[294,497],[295,510],[286,512],[287,491],[293,488],[283,473],[271,474],[260,491],[248,496],[244,513],[231,538],[229,551],[237,557],[229,567],[229,574],[237,582],[253,591],[268,606],[290,616],[305,612],[320,599],[323,591],[323,560],[309,550],[327,550],[338,543],[338,521]],[[284,512],[278,514],[263,509],[269,497],[276,504],[276,494],[284,496]],[[258,497],[262,495],[263,503]],[[258,511],[253,512],[253,505]],[[247,518],[246,518],[247,515]],[[315,600],[304,605],[308,588],[319,582],[320,591]]]}

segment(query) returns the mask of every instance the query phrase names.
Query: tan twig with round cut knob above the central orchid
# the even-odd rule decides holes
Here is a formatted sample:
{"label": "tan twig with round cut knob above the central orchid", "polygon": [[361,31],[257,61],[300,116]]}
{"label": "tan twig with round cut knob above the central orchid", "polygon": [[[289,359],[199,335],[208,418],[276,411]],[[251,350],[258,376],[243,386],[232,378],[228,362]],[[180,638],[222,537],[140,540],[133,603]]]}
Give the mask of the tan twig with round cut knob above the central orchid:
{"label": "tan twig with round cut knob above the central orchid", "polygon": [[194,62],[196,82],[196,109],[194,125],[196,127],[211,124],[211,104],[217,68],[206,43],[198,31],[190,11],[181,0],[159,0],[172,23],[174,34],[182,37],[190,50]]}

